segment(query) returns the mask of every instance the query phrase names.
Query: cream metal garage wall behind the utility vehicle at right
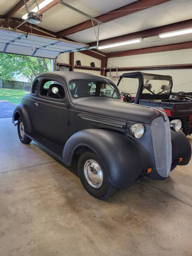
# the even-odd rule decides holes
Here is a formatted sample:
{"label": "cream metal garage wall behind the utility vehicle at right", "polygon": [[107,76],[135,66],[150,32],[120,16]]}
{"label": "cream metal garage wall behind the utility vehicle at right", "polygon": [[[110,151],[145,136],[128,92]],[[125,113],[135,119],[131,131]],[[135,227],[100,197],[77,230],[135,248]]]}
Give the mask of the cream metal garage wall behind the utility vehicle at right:
{"label": "cream metal garage wall behind the utility vehicle at right", "polygon": [[[108,58],[108,67],[117,66],[117,67],[141,67],[141,66],[153,66],[153,65],[174,65],[174,64],[187,64],[192,63],[192,49],[183,49],[177,51],[166,51],[166,52],[158,52],[158,53],[148,53],[148,54],[140,54],[140,55],[132,55],[132,56],[124,56],[124,57],[115,57]],[[135,69],[137,71],[137,69]],[[132,72],[132,71],[118,71],[118,75],[123,73]],[[178,86],[173,91],[192,91],[192,77],[191,69],[169,69],[169,70],[143,70],[146,73],[156,73],[162,75],[171,75],[173,78],[173,84],[178,86],[180,84],[184,84],[182,86]],[[116,72],[111,72],[112,76],[116,76]],[[107,72],[107,77],[109,77],[109,72]],[[114,82],[117,83],[118,79],[114,79]],[[189,83],[188,83],[189,82]],[[127,88],[127,82],[121,81],[119,85],[121,91],[135,92],[135,88]]]}

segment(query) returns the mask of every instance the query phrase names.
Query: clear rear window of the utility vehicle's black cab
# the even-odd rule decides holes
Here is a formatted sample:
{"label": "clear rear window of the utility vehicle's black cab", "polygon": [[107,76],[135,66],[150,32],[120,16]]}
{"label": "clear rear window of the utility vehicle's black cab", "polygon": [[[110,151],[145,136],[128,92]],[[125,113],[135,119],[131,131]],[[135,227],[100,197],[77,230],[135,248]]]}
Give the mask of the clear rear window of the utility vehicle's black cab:
{"label": "clear rear window of the utility vehicle's black cab", "polygon": [[170,94],[171,78],[143,76],[143,94]]}

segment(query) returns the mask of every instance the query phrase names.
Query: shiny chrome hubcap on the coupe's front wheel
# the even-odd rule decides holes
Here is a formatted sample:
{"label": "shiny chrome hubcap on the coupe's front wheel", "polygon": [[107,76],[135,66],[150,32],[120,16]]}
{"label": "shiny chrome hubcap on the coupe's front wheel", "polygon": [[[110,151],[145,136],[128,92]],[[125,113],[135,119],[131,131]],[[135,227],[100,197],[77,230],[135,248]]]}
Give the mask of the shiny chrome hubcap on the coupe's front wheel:
{"label": "shiny chrome hubcap on the coupe's front wheel", "polygon": [[95,160],[87,160],[84,164],[84,175],[91,187],[99,188],[103,183],[103,172]]}

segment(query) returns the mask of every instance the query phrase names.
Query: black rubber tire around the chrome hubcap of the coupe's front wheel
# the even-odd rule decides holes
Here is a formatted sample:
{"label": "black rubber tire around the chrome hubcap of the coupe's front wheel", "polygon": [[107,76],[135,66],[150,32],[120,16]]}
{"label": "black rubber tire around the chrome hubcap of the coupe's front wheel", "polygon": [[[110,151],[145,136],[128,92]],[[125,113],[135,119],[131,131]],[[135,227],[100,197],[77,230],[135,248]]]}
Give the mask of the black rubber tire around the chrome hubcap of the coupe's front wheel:
{"label": "black rubber tire around the chrome hubcap of the coupe's front wheel", "polygon": [[[103,181],[102,181],[102,185],[100,185],[100,187],[98,187],[98,188],[92,187],[88,183],[88,181],[85,177],[84,166],[88,160],[96,161],[96,163],[98,163],[98,165],[100,166],[100,168],[102,170]],[[105,169],[104,165],[102,164],[102,161],[100,160],[100,158],[90,150],[85,151],[80,155],[79,160],[78,160],[78,173],[79,173],[79,178],[80,178],[80,181],[81,181],[83,187],[93,197],[96,197],[98,199],[104,199],[104,198],[110,197],[113,193],[115,193],[115,191],[117,189],[110,183],[106,169]]]}

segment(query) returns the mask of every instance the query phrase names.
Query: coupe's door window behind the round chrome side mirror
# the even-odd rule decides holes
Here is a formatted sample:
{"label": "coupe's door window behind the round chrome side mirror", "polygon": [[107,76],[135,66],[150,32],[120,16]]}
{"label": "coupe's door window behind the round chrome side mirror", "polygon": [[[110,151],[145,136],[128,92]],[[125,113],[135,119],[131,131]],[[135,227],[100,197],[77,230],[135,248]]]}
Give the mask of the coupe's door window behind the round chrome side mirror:
{"label": "coupe's door window behind the round chrome side mirror", "polygon": [[[59,95],[55,92],[56,89],[52,90],[54,87],[56,87],[58,89],[57,93]],[[44,79],[42,81],[40,91],[43,96],[47,96],[49,98],[54,98],[54,99],[61,99],[61,98],[64,99],[65,98],[65,91],[63,89],[63,86],[61,85],[60,82],[58,82],[56,80]]]}

